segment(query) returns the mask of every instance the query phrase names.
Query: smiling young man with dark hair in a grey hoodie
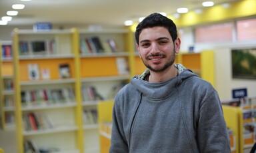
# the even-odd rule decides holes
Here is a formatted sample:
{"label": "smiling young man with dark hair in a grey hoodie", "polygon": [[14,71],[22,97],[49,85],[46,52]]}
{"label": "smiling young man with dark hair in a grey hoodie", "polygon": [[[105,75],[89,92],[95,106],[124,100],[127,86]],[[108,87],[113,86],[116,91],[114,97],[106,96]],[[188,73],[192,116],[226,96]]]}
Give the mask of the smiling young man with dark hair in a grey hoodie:
{"label": "smiling young man with dark hair in a grey hoodie", "polygon": [[115,98],[109,152],[231,152],[216,90],[174,64],[181,45],[175,23],[153,13],[135,39],[148,69]]}

